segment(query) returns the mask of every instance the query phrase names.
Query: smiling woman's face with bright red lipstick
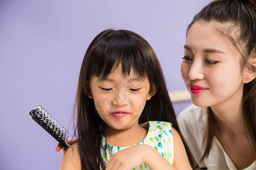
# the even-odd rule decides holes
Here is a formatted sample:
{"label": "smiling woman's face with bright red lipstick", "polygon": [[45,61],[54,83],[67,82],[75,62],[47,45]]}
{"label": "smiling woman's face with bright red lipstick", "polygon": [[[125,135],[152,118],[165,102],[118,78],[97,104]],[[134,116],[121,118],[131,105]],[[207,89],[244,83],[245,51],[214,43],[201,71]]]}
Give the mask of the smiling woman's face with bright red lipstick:
{"label": "smiling woman's face with bright red lipstick", "polygon": [[188,31],[181,76],[193,104],[212,107],[241,101],[241,57],[214,27],[217,22],[196,22]]}

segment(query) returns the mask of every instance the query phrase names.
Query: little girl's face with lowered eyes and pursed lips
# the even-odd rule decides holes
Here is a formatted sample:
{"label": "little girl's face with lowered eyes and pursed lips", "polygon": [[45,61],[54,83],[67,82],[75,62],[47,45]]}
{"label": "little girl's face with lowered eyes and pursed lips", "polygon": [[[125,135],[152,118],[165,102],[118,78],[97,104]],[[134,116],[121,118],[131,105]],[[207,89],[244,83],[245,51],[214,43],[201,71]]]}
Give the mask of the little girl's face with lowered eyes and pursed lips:
{"label": "little girl's face with lowered eyes and pursed lips", "polygon": [[135,76],[133,70],[123,76],[120,67],[106,79],[92,76],[90,90],[88,96],[94,100],[98,114],[115,130],[138,127],[146,100],[151,98],[148,80]]}

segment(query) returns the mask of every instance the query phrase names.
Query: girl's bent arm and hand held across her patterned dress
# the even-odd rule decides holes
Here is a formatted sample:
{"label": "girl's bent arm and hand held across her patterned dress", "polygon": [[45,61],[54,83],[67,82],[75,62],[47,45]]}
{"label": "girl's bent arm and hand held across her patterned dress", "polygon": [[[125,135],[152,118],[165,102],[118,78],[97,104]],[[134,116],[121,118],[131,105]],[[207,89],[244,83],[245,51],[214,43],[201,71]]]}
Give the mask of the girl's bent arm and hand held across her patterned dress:
{"label": "girl's bent arm and hand held across her patterned dress", "polygon": [[108,164],[106,164],[106,170],[131,169],[144,163],[147,164],[151,170],[192,169],[179,133],[177,133],[176,129],[172,128],[172,134],[174,137],[173,166],[151,146],[137,145],[115,153]]}

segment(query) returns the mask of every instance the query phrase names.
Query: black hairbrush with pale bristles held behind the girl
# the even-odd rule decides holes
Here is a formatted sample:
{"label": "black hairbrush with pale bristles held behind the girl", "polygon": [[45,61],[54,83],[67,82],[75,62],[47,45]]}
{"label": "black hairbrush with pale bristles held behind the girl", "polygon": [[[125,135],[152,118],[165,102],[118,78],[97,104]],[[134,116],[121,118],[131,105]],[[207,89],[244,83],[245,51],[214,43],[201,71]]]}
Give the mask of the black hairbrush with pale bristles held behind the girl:
{"label": "black hairbrush with pale bristles held behind the girl", "polygon": [[68,131],[63,128],[47,111],[40,105],[36,106],[30,115],[44,130],[55,138],[65,149],[69,147],[67,141]]}

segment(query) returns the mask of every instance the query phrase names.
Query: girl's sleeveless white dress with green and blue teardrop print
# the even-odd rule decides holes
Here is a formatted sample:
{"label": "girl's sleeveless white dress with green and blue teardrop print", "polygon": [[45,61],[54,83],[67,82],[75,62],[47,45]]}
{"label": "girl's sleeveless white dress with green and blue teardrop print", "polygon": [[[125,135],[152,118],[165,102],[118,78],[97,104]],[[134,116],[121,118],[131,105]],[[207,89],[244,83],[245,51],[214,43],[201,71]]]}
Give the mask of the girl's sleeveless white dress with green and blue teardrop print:
{"label": "girl's sleeveless white dress with green and blue teardrop print", "polygon": [[[174,163],[174,145],[172,138],[172,124],[169,122],[160,122],[160,121],[150,121],[141,125],[143,128],[148,127],[148,133],[144,140],[141,143],[137,143],[136,145],[149,145],[155,148],[156,151],[159,152],[160,155],[163,156],[170,164]],[[127,147],[117,147],[109,145],[108,141],[103,137],[102,138],[102,158],[105,163],[108,163],[108,160],[112,158],[112,156]],[[134,145],[132,145],[134,146]],[[149,169],[146,164],[139,165],[138,167],[133,168],[133,170],[138,169]]]}

